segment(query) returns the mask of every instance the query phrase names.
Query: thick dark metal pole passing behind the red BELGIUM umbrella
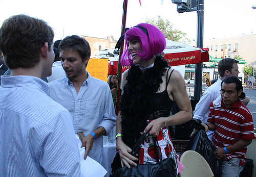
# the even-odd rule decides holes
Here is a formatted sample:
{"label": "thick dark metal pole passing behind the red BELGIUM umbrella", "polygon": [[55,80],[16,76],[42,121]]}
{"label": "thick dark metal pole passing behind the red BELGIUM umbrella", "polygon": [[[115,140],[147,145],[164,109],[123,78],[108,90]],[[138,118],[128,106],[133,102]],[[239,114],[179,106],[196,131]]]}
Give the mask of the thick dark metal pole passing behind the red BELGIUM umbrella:
{"label": "thick dark metal pole passing behind the red BELGIUM umbrella", "polygon": [[[204,29],[204,0],[197,2],[197,47],[203,47],[203,29]],[[199,100],[202,94],[202,63],[196,64],[195,68],[195,92],[194,99]]]}

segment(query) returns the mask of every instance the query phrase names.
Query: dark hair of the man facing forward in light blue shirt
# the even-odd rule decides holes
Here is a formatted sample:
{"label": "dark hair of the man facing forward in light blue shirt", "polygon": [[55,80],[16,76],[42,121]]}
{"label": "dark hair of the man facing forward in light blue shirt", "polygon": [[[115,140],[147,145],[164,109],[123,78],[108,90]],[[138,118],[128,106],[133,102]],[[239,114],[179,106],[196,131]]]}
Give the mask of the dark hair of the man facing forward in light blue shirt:
{"label": "dark hair of the man facing forward in light blue shirt", "polygon": [[91,48],[86,39],[77,35],[67,36],[62,39],[58,46],[59,52],[63,49],[76,50],[81,57],[82,61],[91,56]]}

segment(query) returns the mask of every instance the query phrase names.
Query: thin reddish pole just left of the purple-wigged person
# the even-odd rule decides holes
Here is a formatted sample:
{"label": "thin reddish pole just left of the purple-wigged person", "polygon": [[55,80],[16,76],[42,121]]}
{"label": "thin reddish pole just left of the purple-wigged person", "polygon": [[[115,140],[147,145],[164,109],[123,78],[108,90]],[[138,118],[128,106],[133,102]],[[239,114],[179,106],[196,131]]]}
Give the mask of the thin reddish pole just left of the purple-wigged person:
{"label": "thin reddish pole just left of the purple-wigged person", "polygon": [[[122,32],[121,35],[124,34],[125,23],[126,23],[126,12],[127,12],[127,2],[128,0],[123,1],[123,18],[122,18]],[[121,86],[121,75],[122,75],[122,65],[120,64],[120,58],[123,53],[123,42],[119,51],[119,60],[118,60],[118,83],[117,83],[117,93],[116,93],[116,115],[118,115],[119,111],[119,97],[120,97],[120,86]]]}

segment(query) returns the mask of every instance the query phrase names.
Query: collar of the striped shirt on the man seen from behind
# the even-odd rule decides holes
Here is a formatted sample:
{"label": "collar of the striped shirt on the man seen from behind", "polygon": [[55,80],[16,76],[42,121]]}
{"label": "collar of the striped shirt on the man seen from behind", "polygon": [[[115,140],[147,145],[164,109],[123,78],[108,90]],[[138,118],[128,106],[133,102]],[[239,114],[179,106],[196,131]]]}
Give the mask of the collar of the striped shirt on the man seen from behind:
{"label": "collar of the striped shirt on the man seen from behind", "polygon": [[49,89],[49,84],[40,78],[31,75],[2,75],[1,87],[23,87],[23,86],[37,86],[42,91],[46,92]]}

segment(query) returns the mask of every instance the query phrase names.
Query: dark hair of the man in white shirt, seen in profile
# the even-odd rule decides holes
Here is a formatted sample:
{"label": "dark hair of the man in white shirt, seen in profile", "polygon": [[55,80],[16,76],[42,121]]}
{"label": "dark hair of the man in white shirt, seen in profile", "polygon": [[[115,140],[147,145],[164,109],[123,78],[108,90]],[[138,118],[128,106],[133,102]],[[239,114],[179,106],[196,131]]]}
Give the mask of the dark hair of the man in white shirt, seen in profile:
{"label": "dark hair of the man in white shirt, seen in profile", "polygon": [[232,58],[224,58],[221,61],[219,61],[218,72],[219,72],[220,76],[224,77],[226,70],[231,72],[234,63],[239,63],[239,61],[232,59]]}

